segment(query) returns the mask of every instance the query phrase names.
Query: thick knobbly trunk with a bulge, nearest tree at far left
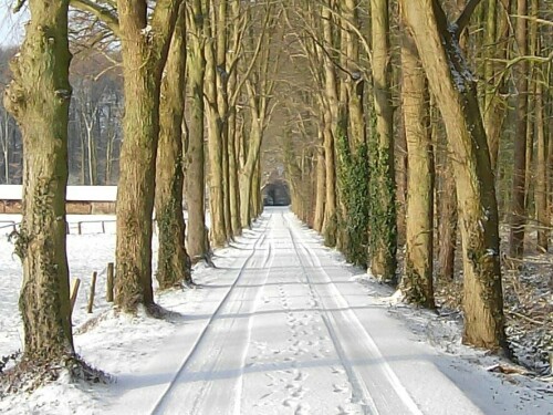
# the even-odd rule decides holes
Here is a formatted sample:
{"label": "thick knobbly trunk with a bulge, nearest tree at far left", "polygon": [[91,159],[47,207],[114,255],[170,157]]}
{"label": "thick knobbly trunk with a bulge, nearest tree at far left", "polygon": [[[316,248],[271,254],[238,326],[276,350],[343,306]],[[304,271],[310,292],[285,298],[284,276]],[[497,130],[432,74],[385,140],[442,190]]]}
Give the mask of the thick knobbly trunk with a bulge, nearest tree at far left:
{"label": "thick knobbly trunk with a bulge, nearest tree at far left", "polygon": [[22,222],[14,234],[23,264],[19,307],[23,359],[60,362],[74,355],[65,253],[65,186],[71,85],[67,0],[29,0],[31,19],[12,61],[6,108],[23,138]]}

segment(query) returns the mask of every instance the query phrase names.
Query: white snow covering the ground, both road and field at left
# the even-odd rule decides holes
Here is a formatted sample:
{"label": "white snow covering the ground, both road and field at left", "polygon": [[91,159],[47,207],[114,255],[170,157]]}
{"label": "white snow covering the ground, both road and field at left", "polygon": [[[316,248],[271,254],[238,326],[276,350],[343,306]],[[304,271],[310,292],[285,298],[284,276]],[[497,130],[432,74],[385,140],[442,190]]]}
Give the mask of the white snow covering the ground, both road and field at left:
{"label": "white snow covering the ground, both road and field at left", "polygon": [[[83,279],[75,347],[116,382],[61,380],[6,396],[0,413],[553,414],[551,385],[486,371],[500,361],[462,346],[457,324],[397,303],[285,209],[218,250],[216,268],[198,266],[197,289],[157,295],[174,312],[166,320],[111,311],[104,268],[115,238],[95,229],[67,237],[72,276]],[[20,347],[11,251],[2,235],[0,355]]]}

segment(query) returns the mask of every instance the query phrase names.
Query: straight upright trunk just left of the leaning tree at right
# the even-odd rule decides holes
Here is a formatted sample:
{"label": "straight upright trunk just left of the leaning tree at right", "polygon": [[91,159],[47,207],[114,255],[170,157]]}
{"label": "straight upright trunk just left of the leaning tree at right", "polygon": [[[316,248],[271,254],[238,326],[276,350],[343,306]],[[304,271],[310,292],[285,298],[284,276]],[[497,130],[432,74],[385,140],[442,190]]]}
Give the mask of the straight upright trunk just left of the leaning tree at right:
{"label": "straight upright trunk just left of the leaning tree at right", "polygon": [[401,40],[401,98],[409,166],[407,181],[405,273],[407,301],[434,309],[434,154],[429,127],[428,86],[417,46]]}

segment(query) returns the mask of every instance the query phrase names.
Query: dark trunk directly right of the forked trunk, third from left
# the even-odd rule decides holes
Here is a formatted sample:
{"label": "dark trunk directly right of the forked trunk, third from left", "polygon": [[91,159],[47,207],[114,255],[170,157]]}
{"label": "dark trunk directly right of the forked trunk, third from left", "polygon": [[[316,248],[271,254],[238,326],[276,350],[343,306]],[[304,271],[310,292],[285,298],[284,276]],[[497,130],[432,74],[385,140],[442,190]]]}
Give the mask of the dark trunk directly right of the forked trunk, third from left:
{"label": "dark trunk directly right of the forked trunk, third from left", "polygon": [[156,166],[156,220],[159,250],[156,278],[160,289],[190,283],[190,259],[185,247],[182,216],[182,116],[185,107],[185,6],[165,65],[159,107],[159,144]]}

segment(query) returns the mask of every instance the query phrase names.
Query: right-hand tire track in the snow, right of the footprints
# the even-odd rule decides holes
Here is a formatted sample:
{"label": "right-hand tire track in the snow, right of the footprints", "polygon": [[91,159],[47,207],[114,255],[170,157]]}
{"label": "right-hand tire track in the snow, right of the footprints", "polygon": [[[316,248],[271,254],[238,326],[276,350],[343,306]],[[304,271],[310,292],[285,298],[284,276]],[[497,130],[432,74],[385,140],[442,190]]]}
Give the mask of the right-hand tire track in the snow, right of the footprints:
{"label": "right-hand tire track in the snow, right of the footprints", "polygon": [[[379,414],[378,407],[382,407],[384,413],[390,413],[392,409],[395,413],[421,415],[421,411],[386,362],[371,334],[322,267],[316,253],[298,236],[300,232],[288,218],[286,222],[302,272],[322,310],[323,321],[352,384],[353,402],[362,404],[366,414]],[[309,267],[314,273],[307,270]],[[314,284],[312,279],[316,276],[320,276],[325,284]],[[356,361],[367,359],[374,361],[371,366],[363,361],[356,364]],[[378,378],[375,378],[375,375],[378,375]],[[389,396],[390,393],[397,396],[400,405],[397,405],[398,400]]]}

